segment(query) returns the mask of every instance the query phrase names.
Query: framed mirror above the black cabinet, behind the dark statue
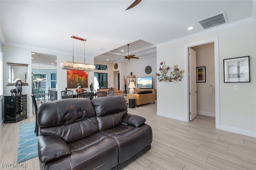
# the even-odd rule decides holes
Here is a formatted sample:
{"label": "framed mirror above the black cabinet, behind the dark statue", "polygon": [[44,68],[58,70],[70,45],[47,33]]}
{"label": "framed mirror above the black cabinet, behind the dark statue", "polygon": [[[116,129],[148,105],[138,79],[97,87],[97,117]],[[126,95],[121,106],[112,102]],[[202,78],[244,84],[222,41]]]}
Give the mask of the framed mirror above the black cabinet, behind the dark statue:
{"label": "framed mirror above the black cabinet, behind the dark statue", "polygon": [[16,79],[21,79],[23,85],[28,85],[28,64],[7,63],[8,84],[15,85]]}

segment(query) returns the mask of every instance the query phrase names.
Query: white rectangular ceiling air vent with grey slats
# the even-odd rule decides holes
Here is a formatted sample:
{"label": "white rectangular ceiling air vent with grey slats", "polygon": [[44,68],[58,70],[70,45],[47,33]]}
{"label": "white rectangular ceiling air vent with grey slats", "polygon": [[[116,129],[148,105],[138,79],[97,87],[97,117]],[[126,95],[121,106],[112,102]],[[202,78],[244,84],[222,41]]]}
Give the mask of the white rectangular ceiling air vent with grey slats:
{"label": "white rectangular ceiling air vent with grey slats", "polygon": [[204,29],[220,26],[222,24],[228,23],[227,18],[225,16],[225,13],[222,12],[216,16],[212,16],[210,18],[206,18],[204,20],[198,21],[200,26],[202,26]]}

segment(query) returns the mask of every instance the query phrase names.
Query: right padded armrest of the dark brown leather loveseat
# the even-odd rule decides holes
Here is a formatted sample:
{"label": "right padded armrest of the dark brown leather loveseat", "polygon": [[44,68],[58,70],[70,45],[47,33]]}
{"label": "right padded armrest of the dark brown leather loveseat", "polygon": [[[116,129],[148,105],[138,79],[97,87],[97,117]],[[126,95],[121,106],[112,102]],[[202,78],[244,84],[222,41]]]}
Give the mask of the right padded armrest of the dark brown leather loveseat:
{"label": "right padded armrest of the dark brown leather loveseat", "polygon": [[146,122],[146,119],[138,115],[132,115],[132,114],[126,113],[123,117],[123,123],[126,123],[134,127],[139,127],[145,122]]}

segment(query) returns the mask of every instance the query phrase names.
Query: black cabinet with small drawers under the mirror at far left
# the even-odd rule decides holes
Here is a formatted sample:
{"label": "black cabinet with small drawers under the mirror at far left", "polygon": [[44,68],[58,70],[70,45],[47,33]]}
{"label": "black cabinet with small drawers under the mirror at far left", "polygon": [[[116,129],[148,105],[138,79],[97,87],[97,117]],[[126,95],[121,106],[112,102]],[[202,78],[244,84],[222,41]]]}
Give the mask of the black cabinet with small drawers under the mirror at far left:
{"label": "black cabinet with small drawers under the mirror at far left", "polygon": [[4,123],[27,119],[27,95],[4,96]]}

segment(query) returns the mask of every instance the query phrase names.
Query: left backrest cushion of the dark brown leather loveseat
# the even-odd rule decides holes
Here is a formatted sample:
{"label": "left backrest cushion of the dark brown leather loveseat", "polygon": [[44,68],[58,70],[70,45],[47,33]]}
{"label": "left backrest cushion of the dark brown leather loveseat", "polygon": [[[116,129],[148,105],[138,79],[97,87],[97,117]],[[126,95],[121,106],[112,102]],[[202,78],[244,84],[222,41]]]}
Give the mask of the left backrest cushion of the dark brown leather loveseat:
{"label": "left backrest cushion of the dark brown leather loveseat", "polygon": [[38,107],[38,125],[43,135],[59,136],[66,143],[86,138],[98,132],[90,99],[61,99],[42,103]]}

